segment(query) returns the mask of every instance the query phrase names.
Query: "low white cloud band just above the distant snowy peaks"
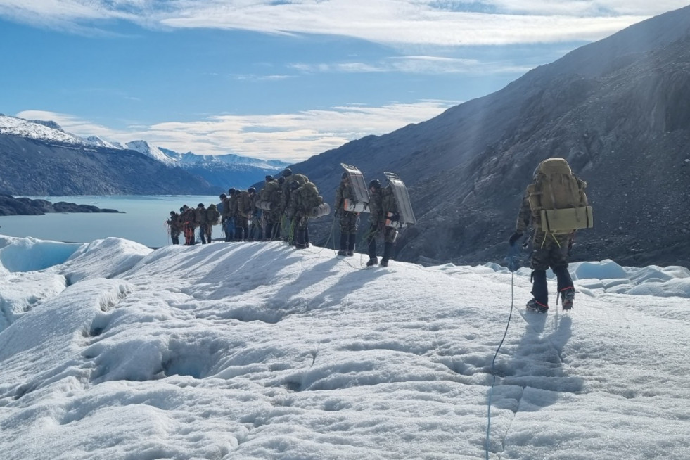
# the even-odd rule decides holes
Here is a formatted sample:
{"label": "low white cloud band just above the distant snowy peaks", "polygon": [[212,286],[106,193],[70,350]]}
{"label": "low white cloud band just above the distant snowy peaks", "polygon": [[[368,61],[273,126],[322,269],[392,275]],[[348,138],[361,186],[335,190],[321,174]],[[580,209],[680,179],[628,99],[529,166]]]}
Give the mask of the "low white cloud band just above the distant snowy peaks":
{"label": "low white cloud band just above the distant snowy peaks", "polygon": [[305,160],[369,134],[385,134],[439,115],[458,101],[343,106],[275,115],[216,115],[194,122],[162,122],[110,129],[63,113],[26,110],[18,117],[53,120],[78,136],[126,143],[143,139],[174,151],[236,153],[263,159]]}

